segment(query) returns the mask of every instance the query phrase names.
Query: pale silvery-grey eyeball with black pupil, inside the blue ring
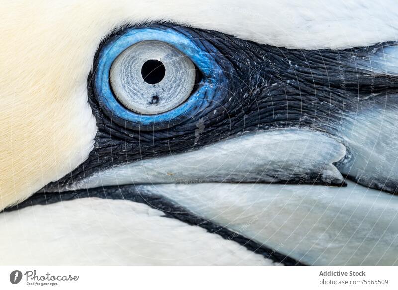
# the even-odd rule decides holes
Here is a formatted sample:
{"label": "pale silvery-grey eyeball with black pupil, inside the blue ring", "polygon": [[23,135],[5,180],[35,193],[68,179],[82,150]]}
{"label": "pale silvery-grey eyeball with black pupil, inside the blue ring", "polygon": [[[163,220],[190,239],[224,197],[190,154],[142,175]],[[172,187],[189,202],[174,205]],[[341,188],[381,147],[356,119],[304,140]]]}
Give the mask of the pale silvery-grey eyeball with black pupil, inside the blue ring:
{"label": "pale silvery-grey eyeball with black pupil, inside the blue ring", "polygon": [[171,45],[142,41],[123,51],[110,68],[116,98],[140,114],[159,114],[183,103],[195,83],[192,61]]}

